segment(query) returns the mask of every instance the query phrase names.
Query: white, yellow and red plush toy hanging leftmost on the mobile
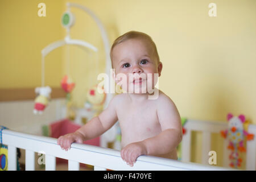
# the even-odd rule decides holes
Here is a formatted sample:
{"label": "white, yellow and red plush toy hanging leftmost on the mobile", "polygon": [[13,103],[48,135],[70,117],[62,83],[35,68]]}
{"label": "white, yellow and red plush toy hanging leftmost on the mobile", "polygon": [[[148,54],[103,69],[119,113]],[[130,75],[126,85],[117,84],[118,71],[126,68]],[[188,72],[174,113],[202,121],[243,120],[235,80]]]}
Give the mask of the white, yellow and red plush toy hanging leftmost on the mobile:
{"label": "white, yellow and red plush toy hanging leftmost on the mobile", "polygon": [[34,114],[42,114],[43,110],[48,105],[49,97],[52,89],[49,86],[37,87],[35,93],[37,94],[35,99]]}

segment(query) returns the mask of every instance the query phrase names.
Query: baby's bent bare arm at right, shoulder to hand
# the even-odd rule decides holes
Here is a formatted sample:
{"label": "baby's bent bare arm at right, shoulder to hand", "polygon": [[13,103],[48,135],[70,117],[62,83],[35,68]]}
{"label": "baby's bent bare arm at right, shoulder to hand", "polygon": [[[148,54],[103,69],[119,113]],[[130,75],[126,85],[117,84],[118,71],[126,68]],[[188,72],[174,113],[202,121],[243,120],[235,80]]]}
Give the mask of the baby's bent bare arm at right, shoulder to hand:
{"label": "baby's bent bare arm at right, shoulder to hand", "polygon": [[167,96],[159,97],[158,119],[162,132],[141,142],[128,144],[121,151],[122,159],[133,166],[139,155],[162,155],[175,150],[182,139],[180,115],[174,102]]}

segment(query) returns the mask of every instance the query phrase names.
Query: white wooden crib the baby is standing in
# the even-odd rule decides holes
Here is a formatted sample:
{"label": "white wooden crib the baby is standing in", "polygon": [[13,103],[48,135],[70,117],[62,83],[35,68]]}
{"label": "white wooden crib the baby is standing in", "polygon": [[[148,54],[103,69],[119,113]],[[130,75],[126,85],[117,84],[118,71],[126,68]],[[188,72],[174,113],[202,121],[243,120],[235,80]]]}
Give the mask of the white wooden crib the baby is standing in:
{"label": "white wooden crib the baby is standing in", "polygon": [[[210,123],[191,121],[187,122],[187,135],[183,139],[183,162],[171,159],[163,159],[154,156],[139,156],[134,167],[127,166],[121,159],[120,152],[110,148],[90,146],[86,144],[73,143],[71,150],[61,150],[57,145],[57,139],[42,137],[31,134],[19,133],[11,130],[3,130],[3,144],[8,146],[8,168],[16,170],[16,148],[26,150],[26,170],[35,170],[35,152],[46,154],[46,170],[56,169],[56,157],[68,160],[69,170],[79,170],[79,163],[94,166],[94,170],[228,170],[230,168],[209,166],[208,155],[203,155],[205,164],[189,163],[191,131],[204,128],[203,153],[208,154],[210,132],[225,129],[222,123]],[[256,127],[249,126],[249,132],[256,134]],[[208,149],[207,149],[208,148]],[[246,169],[255,170],[255,140],[247,142]],[[225,150],[226,151],[226,150]],[[226,155],[226,152],[225,152]],[[187,160],[187,162],[185,162]]]}

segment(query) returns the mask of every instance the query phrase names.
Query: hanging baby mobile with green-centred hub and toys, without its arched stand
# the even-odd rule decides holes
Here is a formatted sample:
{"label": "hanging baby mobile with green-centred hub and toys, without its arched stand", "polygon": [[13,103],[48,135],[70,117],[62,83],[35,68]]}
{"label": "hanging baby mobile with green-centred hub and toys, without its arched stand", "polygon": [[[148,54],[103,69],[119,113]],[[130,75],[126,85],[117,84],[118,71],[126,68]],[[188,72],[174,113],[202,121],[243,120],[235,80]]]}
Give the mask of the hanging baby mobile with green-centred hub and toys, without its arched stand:
{"label": "hanging baby mobile with green-centred hub and toys, without its arched stand", "polygon": [[[69,74],[69,65],[70,65],[70,63],[69,63],[70,62],[70,60],[69,60],[69,45],[76,45],[76,46],[89,48],[93,52],[98,51],[98,49],[96,47],[92,46],[91,44],[89,44],[83,40],[76,40],[76,39],[70,38],[70,35],[69,35],[70,28],[75,23],[75,16],[70,11],[70,5],[71,4],[68,3],[68,6],[67,6],[68,10],[63,14],[63,16],[61,18],[61,24],[67,30],[67,35],[66,35],[65,39],[49,44],[41,52],[42,53],[42,73],[41,73],[42,74],[42,78],[41,78],[42,85],[35,89],[36,98],[35,98],[35,105],[34,105],[34,114],[42,114],[43,113],[44,109],[46,109],[46,106],[48,105],[48,102],[50,100],[50,94],[52,92],[52,89],[49,86],[45,86],[45,83],[44,83],[44,73],[45,73],[44,72],[44,60],[45,60],[45,57],[48,55],[48,53],[50,53],[54,49],[59,48],[61,46],[65,46],[65,45],[68,46],[67,47],[67,63],[66,63],[67,75],[65,75],[61,80],[61,88],[65,91],[65,93],[67,93],[66,100],[67,100],[67,107],[69,107],[70,101],[71,101],[71,92],[75,88],[75,82],[73,82],[73,80]],[[75,6],[75,4],[73,4],[73,6]],[[78,7],[80,7],[80,6],[78,6]],[[96,64],[97,64],[97,61],[96,61]],[[90,95],[94,95],[93,92],[90,92],[90,93],[91,93]],[[102,98],[102,96],[101,96],[101,98]],[[105,98],[105,97],[103,97],[103,98]],[[92,100],[92,98],[90,100]],[[100,104],[102,104],[102,101],[103,100],[100,101]],[[88,101],[88,103],[89,103],[89,101]],[[69,109],[69,108],[67,108],[67,109]]]}

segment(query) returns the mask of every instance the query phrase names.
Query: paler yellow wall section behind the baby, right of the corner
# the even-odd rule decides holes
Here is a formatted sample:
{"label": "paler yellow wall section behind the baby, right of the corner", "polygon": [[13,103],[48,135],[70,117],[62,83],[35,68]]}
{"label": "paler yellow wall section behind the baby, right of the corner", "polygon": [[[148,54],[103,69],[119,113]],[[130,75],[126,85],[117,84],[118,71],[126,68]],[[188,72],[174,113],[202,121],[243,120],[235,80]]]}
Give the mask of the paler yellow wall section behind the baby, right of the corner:
{"label": "paler yellow wall section behind the baby, right of the corner", "polygon": [[[214,1],[217,17],[208,15],[213,1],[71,2],[94,11],[111,43],[130,30],[152,37],[163,62],[159,88],[175,101],[184,117],[225,121],[232,112],[256,123],[254,0]],[[82,21],[85,15],[74,12]],[[100,33],[90,17],[84,17],[84,23],[72,31],[99,47],[104,58]]]}

